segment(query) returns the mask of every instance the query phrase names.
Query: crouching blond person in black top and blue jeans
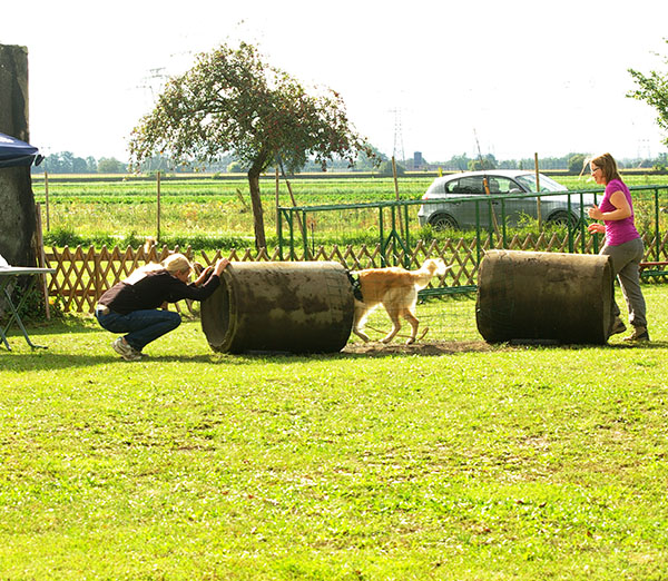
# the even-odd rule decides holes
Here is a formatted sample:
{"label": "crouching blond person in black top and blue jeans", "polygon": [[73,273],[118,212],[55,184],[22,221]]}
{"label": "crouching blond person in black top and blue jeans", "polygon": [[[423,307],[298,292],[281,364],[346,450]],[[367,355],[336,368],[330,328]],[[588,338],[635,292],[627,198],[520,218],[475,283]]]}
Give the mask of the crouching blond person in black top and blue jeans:
{"label": "crouching blond person in black top and blue jeans", "polygon": [[163,264],[138,268],[105,292],[95,316],[102,328],[126,333],[111,344],[114,351],[126,361],[140,360],[146,345],[180,325],[178,313],[159,307],[184,298],[208,298],[220,286],[220,274],[228,264],[227,258],[222,258],[215,268],[209,266],[197,280],[188,284],[193,266],[183,254],[173,254]]}

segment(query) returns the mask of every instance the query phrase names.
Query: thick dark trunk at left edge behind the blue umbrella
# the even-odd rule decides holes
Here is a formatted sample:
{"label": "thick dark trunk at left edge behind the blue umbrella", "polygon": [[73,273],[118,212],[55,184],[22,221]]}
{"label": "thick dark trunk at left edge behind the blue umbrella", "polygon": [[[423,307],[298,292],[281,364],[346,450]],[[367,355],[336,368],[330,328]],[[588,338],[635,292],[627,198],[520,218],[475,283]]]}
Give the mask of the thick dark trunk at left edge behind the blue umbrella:
{"label": "thick dark trunk at left edge behind the blue umbrella", "polygon": [[[28,49],[0,45],[0,132],[29,141]],[[0,254],[37,265],[37,215],[29,167],[0,168]]]}

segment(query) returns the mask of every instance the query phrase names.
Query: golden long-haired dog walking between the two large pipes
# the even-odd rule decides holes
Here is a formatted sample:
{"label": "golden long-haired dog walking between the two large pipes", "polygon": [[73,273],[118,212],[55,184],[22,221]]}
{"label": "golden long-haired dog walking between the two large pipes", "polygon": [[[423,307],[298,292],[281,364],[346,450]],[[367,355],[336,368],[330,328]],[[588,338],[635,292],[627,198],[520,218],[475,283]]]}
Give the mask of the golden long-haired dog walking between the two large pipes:
{"label": "golden long-haired dog walking between the two large pipes", "polygon": [[400,318],[403,317],[412,327],[406,345],[413,343],[418,336],[418,325],[420,324],[415,317],[418,290],[424,288],[434,276],[443,276],[449,268],[440,258],[429,258],[419,270],[390,267],[366,268],[353,273],[360,277],[362,293],[362,301],[355,298],[353,333],[364,342],[370,341],[364,333],[364,325],[370,313],[382,304],[392,321],[392,331],[381,341],[390,343],[394,338],[401,328]]}

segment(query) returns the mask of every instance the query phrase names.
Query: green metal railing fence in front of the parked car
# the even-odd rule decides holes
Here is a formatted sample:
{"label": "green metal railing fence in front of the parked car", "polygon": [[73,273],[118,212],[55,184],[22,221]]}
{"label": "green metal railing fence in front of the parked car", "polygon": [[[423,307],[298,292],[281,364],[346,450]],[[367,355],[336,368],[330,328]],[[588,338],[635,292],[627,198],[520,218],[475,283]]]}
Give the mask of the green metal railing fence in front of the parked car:
{"label": "green metal railing fence in front of the parked car", "polygon": [[[666,233],[668,232],[668,186],[635,186],[631,187],[636,225],[646,243],[645,260],[666,263],[668,260]],[[567,219],[550,221],[547,216],[538,219],[524,216],[520,224],[514,224],[518,204],[538,201],[540,206],[554,206],[554,199],[563,199]],[[373,257],[377,266],[401,265],[410,267],[414,264],[414,252],[418,247],[426,246],[425,239],[443,239],[442,234],[430,226],[421,225],[418,211],[421,206],[438,206],[455,208],[455,205],[466,204],[474,214],[471,227],[448,230],[453,237],[471,240],[471,252],[474,254],[474,267],[482,260],[485,249],[513,248],[518,237],[524,232],[563,235],[560,252],[596,254],[602,244],[602,236],[590,235],[587,225],[590,223],[587,208],[592,203],[600,203],[602,190],[583,189],[564,193],[536,194],[503,194],[485,196],[460,196],[456,198],[436,200],[392,200],[367,204],[338,204],[321,206],[279,207],[277,217],[278,250],[282,260],[308,260],[326,256],[322,250],[322,240],[330,242],[332,256],[343,256],[353,263],[360,260],[355,250],[374,247]],[[538,211],[538,205],[537,205]],[[456,214],[454,209],[452,214]],[[563,215],[561,215],[563,218]],[[512,219],[511,219],[512,218]],[[366,239],[346,242],[355,234],[364,230]],[[370,234],[371,232],[371,234]],[[336,249],[337,247],[337,249]],[[522,247],[522,249],[538,249]],[[374,263],[375,264],[375,263]],[[351,266],[351,265],[348,265]],[[644,273],[645,276],[665,276],[665,265],[658,265]],[[461,292],[459,286],[448,288],[449,293]]]}

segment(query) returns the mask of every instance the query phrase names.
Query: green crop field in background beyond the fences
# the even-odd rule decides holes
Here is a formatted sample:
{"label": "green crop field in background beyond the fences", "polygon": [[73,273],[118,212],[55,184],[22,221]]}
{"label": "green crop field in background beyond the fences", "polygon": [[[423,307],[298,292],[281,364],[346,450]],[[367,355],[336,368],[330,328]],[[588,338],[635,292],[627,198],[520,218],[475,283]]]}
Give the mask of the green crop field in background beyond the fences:
{"label": "green crop field in background beyond the fences", "polygon": [[[433,176],[411,175],[399,178],[401,199],[420,199]],[[158,230],[157,180],[98,176],[50,176],[47,191],[43,176],[33,176],[36,200],[42,205],[45,230],[60,233],[62,240],[77,236],[82,242],[115,237],[116,242],[143,239]],[[558,176],[569,189],[595,187],[588,176]],[[629,185],[668,184],[668,176],[632,175],[626,177]],[[353,204],[393,200],[396,198],[392,178],[377,177],[306,177],[291,181],[298,206]],[[275,239],[276,180],[267,176],[262,180],[263,205],[267,237]],[[278,184],[279,205],[291,206],[292,198],[285,180]],[[48,215],[47,215],[48,207]],[[415,219],[418,206],[412,207]],[[357,213],[358,214],[358,213]],[[350,227],[347,217],[335,226],[342,240],[345,235],[362,235],[362,240],[373,243],[377,228],[375,216],[362,217]],[[373,224],[372,224],[373,221]],[[315,227],[316,225],[311,225]],[[364,238],[366,228],[373,232]],[[245,177],[168,176],[160,181],[160,235],[171,238],[229,239],[232,245],[253,244],[253,216],[250,213],[248,184]],[[73,236],[72,236],[73,235]],[[336,233],[334,234],[336,236]],[[47,238],[48,239],[48,238]],[[60,242],[62,242],[60,240]],[[112,239],[109,240],[112,243]],[[56,245],[59,240],[55,240]],[[218,243],[219,244],[219,243]]]}

